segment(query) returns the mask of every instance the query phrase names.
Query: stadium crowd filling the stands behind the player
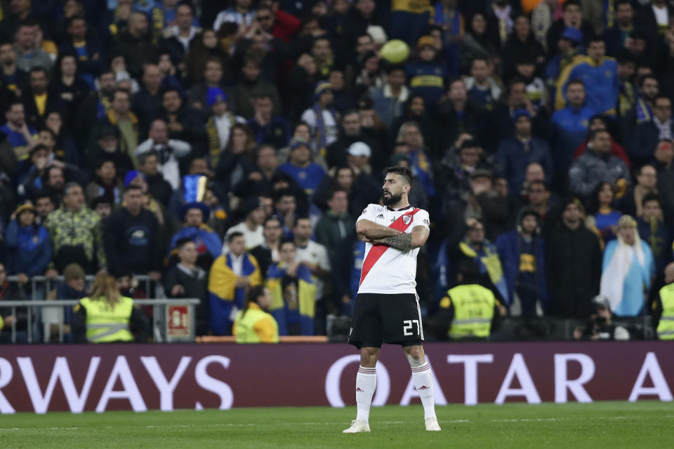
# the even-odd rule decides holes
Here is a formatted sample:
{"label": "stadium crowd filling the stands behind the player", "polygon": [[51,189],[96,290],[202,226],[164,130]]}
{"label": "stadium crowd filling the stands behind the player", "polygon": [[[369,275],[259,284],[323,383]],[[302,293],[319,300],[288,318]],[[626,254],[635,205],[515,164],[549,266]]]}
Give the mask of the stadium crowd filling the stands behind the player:
{"label": "stadium crowd filling the stands behind the player", "polygon": [[670,0],[0,8],[0,300],[100,271],[154,297],[143,274],[227,335],[265,285],[280,335],[321,335],[352,312],[355,220],[407,166],[431,322],[465,320],[447,290],[470,278],[499,315],[674,323]]}

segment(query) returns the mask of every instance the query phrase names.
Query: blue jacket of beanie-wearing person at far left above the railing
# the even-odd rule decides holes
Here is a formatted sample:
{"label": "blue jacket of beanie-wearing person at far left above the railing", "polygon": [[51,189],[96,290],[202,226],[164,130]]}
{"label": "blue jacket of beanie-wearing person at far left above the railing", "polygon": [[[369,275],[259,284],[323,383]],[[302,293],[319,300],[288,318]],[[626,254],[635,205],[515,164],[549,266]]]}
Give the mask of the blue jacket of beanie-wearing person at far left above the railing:
{"label": "blue jacket of beanie-wearing person at far left above the railing", "polygon": [[7,246],[13,249],[10,273],[27,276],[44,274],[51,260],[51,240],[44,226],[19,226],[12,220],[5,236]]}

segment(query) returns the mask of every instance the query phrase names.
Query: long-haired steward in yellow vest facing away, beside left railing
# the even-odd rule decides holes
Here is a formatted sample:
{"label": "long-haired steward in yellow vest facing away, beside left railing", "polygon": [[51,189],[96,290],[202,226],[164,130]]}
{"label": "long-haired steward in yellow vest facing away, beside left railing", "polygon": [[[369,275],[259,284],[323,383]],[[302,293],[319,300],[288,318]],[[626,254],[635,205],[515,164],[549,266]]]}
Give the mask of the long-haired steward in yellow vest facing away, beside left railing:
{"label": "long-haired steward in yellow vest facing away, beside left railing", "polygon": [[91,294],[74,307],[71,328],[77,343],[144,343],[150,333],[147,316],[130,297],[119,293],[117,281],[105,273],[95,277]]}

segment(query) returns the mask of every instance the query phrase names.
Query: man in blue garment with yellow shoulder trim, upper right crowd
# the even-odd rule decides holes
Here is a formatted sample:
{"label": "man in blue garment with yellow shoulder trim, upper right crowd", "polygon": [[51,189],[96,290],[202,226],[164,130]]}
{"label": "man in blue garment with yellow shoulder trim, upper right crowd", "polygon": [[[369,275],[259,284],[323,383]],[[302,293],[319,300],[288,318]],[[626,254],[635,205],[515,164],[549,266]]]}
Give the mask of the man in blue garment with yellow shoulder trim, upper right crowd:
{"label": "man in blue garment with yellow shoulder trim, upper right crowd", "polygon": [[588,94],[587,106],[599,114],[616,114],[616,102],[620,88],[618,67],[614,58],[607,58],[606,44],[602,37],[595,36],[588,43],[586,58],[577,58],[560,74],[557,81],[555,109],[564,107],[563,94],[571,79],[580,79],[585,83]]}

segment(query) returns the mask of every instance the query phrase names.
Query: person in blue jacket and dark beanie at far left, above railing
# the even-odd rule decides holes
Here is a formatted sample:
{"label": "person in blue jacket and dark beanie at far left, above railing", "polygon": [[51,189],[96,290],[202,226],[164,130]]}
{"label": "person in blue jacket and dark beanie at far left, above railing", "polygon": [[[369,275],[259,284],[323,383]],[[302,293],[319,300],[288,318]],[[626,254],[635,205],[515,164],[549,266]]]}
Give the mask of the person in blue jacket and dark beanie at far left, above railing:
{"label": "person in blue jacket and dark beanie at far left, above railing", "polygon": [[18,274],[19,283],[44,274],[51,260],[49,233],[37,224],[36,216],[32,203],[24,203],[15,210],[7,227],[5,240],[13,253],[9,273]]}

